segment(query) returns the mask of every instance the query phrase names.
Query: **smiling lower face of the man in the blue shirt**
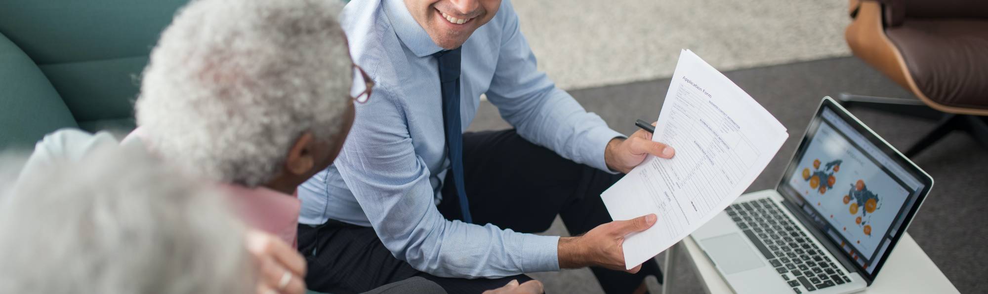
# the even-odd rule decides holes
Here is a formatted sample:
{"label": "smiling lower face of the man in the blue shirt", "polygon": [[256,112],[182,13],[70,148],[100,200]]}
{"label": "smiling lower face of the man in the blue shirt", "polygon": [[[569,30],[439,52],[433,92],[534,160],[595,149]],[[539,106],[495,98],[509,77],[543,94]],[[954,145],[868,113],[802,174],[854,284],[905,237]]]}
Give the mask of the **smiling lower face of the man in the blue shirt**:
{"label": "smiling lower face of the man in the blue shirt", "polygon": [[436,44],[453,49],[494,18],[501,0],[405,0],[405,6]]}

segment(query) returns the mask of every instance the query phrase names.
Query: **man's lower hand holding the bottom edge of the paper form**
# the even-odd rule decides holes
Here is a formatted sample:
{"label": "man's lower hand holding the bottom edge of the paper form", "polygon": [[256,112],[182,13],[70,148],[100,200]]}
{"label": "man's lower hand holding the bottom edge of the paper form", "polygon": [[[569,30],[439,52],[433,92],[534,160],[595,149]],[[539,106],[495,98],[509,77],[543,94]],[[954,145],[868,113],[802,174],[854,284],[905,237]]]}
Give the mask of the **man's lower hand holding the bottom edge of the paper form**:
{"label": "man's lower hand holding the bottom edge of the paper form", "polygon": [[641,264],[625,269],[624,237],[644,231],[655,224],[655,214],[629,220],[606,223],[580,237],[559,239],[559,267],[603,266],[630,273],[638,272]]}

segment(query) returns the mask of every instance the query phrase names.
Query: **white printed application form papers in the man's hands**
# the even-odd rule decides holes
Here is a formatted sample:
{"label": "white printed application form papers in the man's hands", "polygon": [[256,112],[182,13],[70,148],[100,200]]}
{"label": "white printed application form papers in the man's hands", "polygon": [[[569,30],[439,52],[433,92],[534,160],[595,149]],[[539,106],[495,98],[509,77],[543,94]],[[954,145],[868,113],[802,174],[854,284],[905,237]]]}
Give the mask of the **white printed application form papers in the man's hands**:
{"label": "white printed application form papers in the man's hands", "polygon": [[651,228],[625,238],[625,266],[657,256],[724,210],[787,137],[768,110],[683,50],[652,136],[676,148],[676,156],[649,156],[601,194],[615,220],[657,216]]}

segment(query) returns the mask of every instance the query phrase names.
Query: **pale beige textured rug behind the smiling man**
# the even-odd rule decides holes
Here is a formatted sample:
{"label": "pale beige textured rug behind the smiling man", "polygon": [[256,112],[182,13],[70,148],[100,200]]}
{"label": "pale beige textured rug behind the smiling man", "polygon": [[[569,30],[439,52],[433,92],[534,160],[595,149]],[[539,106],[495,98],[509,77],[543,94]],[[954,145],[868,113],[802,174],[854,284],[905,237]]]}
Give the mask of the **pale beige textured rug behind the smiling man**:
{"label": "pale beige textured rug behind the smiling man", "polygon": [[513,1],[563,89],[672,76],[681,48],[736,69],[851,54],[847,0]]}

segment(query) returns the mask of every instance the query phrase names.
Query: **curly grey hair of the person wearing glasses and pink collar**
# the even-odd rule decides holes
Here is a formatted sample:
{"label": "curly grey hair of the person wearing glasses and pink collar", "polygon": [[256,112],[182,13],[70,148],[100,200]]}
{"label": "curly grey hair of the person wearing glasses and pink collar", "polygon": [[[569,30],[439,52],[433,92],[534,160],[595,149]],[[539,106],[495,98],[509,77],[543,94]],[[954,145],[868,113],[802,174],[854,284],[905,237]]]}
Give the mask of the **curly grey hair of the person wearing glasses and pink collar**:
{"label": "curly grey hair of the person wearing glasses and pink collar", "polygon": [[305,131],[341,132],[352,61],[331,0],[197,0],[144,69],[137,124],[151,149],[209,180],[265,184]]}

